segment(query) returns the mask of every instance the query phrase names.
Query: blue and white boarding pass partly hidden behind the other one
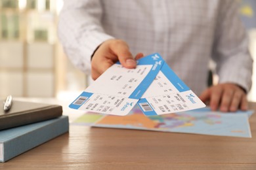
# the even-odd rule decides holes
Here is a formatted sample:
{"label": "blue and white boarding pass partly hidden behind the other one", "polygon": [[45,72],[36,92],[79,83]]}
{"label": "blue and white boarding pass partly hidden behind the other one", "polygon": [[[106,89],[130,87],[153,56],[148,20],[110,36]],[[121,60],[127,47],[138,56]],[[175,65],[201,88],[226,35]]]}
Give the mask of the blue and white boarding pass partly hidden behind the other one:
{"label": "blue and white boarding pass partly hidden behind the other one", "polygon": [[181,112],[205,107],[198,96],[163,63],[155,80],[138,101],[146,116]]}

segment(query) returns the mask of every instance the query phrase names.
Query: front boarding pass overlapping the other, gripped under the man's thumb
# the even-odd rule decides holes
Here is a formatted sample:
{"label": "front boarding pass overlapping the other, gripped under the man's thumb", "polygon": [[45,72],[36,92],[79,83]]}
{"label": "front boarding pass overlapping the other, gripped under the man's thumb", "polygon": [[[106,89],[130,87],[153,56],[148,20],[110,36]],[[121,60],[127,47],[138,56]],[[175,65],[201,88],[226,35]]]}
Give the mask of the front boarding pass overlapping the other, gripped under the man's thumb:
{"label": "front boarding pass overlapping the other, gripped under the man's thumb", "polygon": [[146,92],[164,61],[152,54],[137,61],[135,69],[112,65],[70,104],[70,108],[124,116]]}

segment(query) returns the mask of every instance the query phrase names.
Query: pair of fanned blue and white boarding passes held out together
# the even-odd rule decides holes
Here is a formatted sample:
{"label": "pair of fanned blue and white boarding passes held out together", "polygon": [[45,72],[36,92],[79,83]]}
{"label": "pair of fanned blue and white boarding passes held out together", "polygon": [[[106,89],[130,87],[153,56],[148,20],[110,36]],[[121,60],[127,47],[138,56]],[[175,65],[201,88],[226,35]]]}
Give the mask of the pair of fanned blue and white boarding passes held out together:
{"label": "pair of fanned blue and white boarding passes held out together", "polygon": [[70,108],[124,116],[136,103],[147,116],[205,107],[156,53],[137,60],[135,69],[115,63]]}

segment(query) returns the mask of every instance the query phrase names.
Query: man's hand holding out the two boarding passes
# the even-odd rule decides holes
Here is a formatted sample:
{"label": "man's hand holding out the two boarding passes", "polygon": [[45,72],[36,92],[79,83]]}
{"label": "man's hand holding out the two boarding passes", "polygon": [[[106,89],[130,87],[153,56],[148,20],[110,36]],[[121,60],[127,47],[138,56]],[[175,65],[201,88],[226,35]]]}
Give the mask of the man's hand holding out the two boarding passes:
{"label": "man's hand holding out the two boarding passes", "polygon": [[[141,55],[143,54],[137,54],[137,56]],[[137,65],[126,42],[110,39],[100,44],[91,60],[91,76],[93,80],[96,80],[98,76],[117,61],[120,61],[121,65],[127,69],[133,69]]]}

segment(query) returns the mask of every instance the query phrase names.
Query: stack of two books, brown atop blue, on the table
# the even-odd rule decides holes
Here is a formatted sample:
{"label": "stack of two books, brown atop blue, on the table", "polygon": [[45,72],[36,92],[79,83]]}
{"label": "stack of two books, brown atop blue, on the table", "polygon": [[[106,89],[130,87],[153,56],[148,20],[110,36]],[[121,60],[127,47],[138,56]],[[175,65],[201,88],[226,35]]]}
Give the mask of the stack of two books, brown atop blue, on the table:
{"label": "stack of two books, brown atop blue, on the table", "polygon": [[10,110],[3,107],[0,100],[0,162],[68,132],[68,116],[60,105],[14,100]]}

